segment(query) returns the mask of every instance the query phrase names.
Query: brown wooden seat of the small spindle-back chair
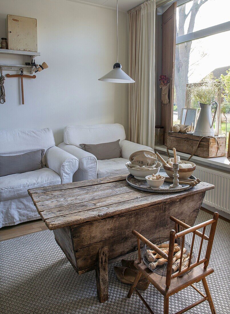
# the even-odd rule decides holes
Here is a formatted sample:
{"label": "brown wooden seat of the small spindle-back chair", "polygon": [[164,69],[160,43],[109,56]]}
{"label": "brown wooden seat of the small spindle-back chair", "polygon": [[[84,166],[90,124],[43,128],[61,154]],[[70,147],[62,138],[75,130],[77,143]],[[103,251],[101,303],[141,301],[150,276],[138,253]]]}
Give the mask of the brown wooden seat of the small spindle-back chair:
{"label": "brown wooden seat of the small spindle-back chair", "polygon": [[166,297],[173,295],[174,293],[200,281],[202,278],[210,275],[214,272],[211,267],[204,269],[204,265],[198,265],[193,268],[190,273],[185,274],[182,277],[177,277],[171,280],[169,289],[166,289],[165,280],[166,277],[153,273],[142,261],[138,263],[138,260],[134,262],[135,267],[150,281],[154,287]]}

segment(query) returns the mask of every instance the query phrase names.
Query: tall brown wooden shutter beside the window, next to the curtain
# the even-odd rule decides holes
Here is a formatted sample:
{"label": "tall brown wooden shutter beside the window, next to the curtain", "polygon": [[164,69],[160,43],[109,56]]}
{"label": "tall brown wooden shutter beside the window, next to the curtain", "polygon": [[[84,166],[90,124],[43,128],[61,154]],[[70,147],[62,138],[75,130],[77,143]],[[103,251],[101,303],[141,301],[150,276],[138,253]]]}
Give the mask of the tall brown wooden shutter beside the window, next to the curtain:
{"label": "tall brown wooden shutter beside the window, next to the curtain", "polygon": [[161,104],[161,125],[164,127],[164,144],[173,126],[174,66],[176,50],[176,2],[162,14],[162,68],[161,74],[169,78],[169,104]]}

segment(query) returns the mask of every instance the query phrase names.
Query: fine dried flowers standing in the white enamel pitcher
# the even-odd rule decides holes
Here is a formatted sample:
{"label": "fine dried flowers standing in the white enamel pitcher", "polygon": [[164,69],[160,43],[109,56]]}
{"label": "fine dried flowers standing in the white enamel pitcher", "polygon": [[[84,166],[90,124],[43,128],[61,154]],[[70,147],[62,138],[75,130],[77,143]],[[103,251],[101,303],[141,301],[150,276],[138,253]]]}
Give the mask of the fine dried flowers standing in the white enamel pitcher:
{"label": "fine dried flowers standing in the white enamel pitcher", "polygon": [[201,84],[190,84],[187,87],[187,91],[190,92],[190,95],[193,96],[196,101],[199,101],[201,104],[210,105],[220,88],[220,82],[208,81]]}

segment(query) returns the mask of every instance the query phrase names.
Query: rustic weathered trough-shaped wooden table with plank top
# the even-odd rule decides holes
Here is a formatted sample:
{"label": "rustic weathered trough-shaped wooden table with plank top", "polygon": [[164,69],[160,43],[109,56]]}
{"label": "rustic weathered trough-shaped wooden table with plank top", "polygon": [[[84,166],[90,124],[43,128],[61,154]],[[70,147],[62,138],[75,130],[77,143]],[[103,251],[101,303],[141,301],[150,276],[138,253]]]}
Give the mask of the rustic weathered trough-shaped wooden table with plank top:
{"label": "rustic weathered trough-shaped wooden table with plank top", "polygon": [[137,250],[133,229],[146,238],[168,235],[172,215],[194,225],[207,190],[201,182],[179,193],[136,190],[126,175],[28,190],[38,213],[77,271],[96,269],[100,302],[108,299],[108,262]]}

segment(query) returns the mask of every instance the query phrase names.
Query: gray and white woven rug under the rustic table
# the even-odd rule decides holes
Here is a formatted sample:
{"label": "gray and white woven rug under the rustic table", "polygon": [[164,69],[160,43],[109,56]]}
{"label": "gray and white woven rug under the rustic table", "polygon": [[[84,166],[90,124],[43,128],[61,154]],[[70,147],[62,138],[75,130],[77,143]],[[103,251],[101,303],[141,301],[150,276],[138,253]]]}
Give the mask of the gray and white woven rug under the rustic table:
{"label": "gray and white woven rug under the rustic table", "polygon": [[[195,224],[207,219],[211,219],[211,215],[200,211]],[[206,234],[209,230],[207,227]],[[229,224],[219,219],[210,263],[215,272],[207,277],[207,282],[216,311],[220,314],[230,311],[229,242]],[[196,243],[196,250],[199,250],[199,243]],[[120,262],[109,265],[109,300],[100,304],[96,294],[95,271],[78,276],[50,230],[1,242],[0,255],[2,314],[147,313],[135,293],[131,299],[126,298],[130,286],[120,283],[113,269],[114,266],[121,266]],[[196,286],[204,292],[201,282]],[[142,295],[151,304],[154,313],[163,313],[163,297],[152,285]],[[175,313],[200,298],[189,287],[170,297],[169,313]],[[187,313],[205,314],[211,311],[206,301]]]}

